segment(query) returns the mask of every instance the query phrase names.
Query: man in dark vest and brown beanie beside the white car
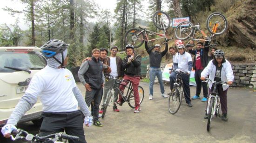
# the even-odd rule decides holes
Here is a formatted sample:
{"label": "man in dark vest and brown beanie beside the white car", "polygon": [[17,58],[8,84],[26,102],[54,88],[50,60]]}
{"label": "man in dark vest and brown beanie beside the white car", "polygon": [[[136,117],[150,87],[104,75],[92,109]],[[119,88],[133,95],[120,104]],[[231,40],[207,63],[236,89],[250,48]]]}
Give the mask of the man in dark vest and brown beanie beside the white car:
{"label": "man in dark vest and brown beanie beside the white car", "polygon": [[81,83],[86,88],[85,102],[88,106],[91,105],[94,100],[93,108],[93,121],[94,125],[101,127],[102,124],[99,121],[99,106],[101,104],[101,92],[103,86],[103,64],[100,61],[100,50],[94,49],[92,51],[92,60],[88,60],[82,63],[78,77]]}

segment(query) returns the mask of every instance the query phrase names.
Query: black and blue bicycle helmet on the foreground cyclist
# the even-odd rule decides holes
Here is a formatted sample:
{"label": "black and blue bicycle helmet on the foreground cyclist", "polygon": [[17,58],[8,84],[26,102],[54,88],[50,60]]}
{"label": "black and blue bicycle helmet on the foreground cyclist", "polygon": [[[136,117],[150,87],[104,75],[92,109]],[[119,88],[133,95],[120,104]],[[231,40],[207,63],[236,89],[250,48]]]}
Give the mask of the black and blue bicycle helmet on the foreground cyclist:
{"label": "black and blue bicycle helmet on the foreground cyclist", "polygon": [[42,53],[47,57],[51,58],[55,56],[58,53],[62,53],[64,50],[67,49],[69,44],[66,44],[65,42],[61,40],[50,40],[46,44],[41,46]]}

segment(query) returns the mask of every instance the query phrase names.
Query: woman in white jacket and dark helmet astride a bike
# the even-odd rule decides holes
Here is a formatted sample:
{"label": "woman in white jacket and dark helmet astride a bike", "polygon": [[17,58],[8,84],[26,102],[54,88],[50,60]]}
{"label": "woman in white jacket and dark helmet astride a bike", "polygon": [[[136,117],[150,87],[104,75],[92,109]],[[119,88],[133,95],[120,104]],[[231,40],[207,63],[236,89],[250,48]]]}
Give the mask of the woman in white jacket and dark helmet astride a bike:
{"label": "woman in white jacket and dark helmet astride a bike", "polygon": [[[234,75],[231,68],[231,64],[224,57],[223,50],[216,50],[214,52],[214,58],[211,60],[207,67],[201,73],[201,80],[205,80],[205,77],[209,75],[211,81],[224,81],[228,85],[217,85],[218,93],[221,100],[221,109],[222,115],[220,116],[223,121],[228,121],[227,112],[228,112],[228,102],[227,102],[227,93],[229,85],[233,83]],[[209,88],[213,90],[212,82],[209,82]],[[208,97],[209,98],[209,97]],[[207,102],[208,103],[208,102]],[[205,119],[208,118],[208,115],[205,114]]]}

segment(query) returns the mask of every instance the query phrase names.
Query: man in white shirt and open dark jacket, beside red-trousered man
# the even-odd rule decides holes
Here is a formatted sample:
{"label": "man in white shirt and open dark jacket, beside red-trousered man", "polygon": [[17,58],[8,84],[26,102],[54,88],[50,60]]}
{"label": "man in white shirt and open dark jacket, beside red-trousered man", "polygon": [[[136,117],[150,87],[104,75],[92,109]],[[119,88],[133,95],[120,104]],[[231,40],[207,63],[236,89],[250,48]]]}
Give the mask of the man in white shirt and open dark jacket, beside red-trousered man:
{"label": "man in white shirt and open dark jacket, beside red-trousered man", "polygon": [[[121,72],[121,66],[122,66],[122,59],[119,56],[116,56],[118,49],[116,46],[113,46],[111,48],[111,55],[106,58],[107,65],[111,68],[111,73],[109,75],[115,77],[115,78],[120,78],[122,77],[122,72]],[[105,76],[109,76],[108,73],[104,73]],[[107,74],[107,75],[106,75]],[[104,103],[108,90],[109,88],[113,85],[114,79],[110,78],[108,81],[105,80],[104,84],[104,92],[103,92],[103,100],[102,102]],[[117,102],[118,99],[118,91],[115,90],[114,94],[114,101],[113,101],[113,111],[119,112],[119,109],[117,109],[117,106],[115,105],[115,102]],[[104,104],[101,106],[101,111],[100,113],[103,112],[104,109]]]}

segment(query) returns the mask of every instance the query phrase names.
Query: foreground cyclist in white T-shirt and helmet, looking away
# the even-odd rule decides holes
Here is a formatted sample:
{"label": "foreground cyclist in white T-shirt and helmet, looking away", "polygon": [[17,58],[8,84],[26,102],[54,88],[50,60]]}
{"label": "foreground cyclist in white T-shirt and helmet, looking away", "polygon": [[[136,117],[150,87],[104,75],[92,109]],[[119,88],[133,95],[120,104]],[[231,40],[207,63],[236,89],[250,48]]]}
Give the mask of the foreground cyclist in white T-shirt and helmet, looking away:
{"label": "foreground cyclist in white T-shirt and helmet, looking away", "polygon": [[[47,66],[33,76],[25,94],[2,128],[5,137],[10,137],[20,118],[40,97],[43,121],[39,136],[47,136],[64,129],[67,134],[80,139],[75,142],[69,140],[69,143],[86,143],[82,113],[88,118],[90,111],[72,73],[65,68],[68,60],[67,47],[68,44],[61,40],[50,40],[41,47],[42,53],[47,57]],[[3,131],[6,129],[7,132]]]}

